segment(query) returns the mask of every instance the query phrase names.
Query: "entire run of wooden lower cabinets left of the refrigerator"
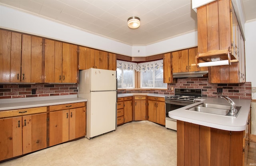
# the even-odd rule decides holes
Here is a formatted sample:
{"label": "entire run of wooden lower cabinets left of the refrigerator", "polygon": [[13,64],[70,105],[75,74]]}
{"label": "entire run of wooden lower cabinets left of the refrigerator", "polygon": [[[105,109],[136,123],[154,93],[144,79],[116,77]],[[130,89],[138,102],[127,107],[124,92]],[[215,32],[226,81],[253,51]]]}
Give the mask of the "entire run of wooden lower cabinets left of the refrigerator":
{"label": "entire run of wooden lower cabinets left of the refrigerator", "polygon": [[0,111],[0,127],[4,162],[85,136],[86,102]]}

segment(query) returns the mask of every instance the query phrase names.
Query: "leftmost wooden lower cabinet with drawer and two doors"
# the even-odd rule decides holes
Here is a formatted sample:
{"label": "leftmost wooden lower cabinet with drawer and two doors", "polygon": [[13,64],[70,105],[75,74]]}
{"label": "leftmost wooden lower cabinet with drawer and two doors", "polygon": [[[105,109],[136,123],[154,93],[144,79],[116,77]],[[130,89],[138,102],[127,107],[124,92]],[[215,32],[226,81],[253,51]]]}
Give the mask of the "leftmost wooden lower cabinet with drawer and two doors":
{"label": "leftmost wooden lower cabinet with drawer and two doors", "polygon": [[46,148],[46,107],[1,111],[0,126],[0,161]]}

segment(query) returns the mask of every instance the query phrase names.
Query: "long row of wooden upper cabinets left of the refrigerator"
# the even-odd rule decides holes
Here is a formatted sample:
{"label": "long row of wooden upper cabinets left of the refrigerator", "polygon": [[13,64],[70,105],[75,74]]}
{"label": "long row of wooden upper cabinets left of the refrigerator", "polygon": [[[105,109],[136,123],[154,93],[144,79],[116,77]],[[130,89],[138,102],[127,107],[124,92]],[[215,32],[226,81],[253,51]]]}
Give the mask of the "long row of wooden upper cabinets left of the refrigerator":
{"label": "long row of wooden upper cabinets left of the refrigerator", "polygon": [[0,82],[77,83],[73,44],[0,30]]}

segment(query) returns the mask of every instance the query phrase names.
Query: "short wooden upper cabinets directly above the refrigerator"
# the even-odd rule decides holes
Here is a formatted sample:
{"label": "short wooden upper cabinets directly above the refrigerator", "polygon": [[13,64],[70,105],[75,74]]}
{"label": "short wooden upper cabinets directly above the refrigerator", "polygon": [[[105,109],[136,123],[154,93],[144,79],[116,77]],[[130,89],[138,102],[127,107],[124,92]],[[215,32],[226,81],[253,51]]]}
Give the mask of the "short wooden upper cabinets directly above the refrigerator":
{"label": "short wooden upper cabinets directly above the refrigerator", "polygon": [[79,46],[79,70],[89,68],[116,70],[116,54]]}

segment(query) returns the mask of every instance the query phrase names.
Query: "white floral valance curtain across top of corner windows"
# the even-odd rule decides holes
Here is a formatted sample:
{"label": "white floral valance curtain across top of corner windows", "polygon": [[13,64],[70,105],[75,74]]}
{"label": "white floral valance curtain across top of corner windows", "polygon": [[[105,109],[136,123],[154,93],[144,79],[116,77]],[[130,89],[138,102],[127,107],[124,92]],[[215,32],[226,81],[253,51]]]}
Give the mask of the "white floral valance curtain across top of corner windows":
{"label": "white floral valance curtain across top of corner windows", "polygon": [[122,60],[117,60],[116,62],[117,68],[120,70],[136,70],[137,72],[146,72],[149,70],[159,70],[164,68],[163,60],[156,60],[151,62],[144,62],[144,63],[134,63],[134,62],[126,62]]}

